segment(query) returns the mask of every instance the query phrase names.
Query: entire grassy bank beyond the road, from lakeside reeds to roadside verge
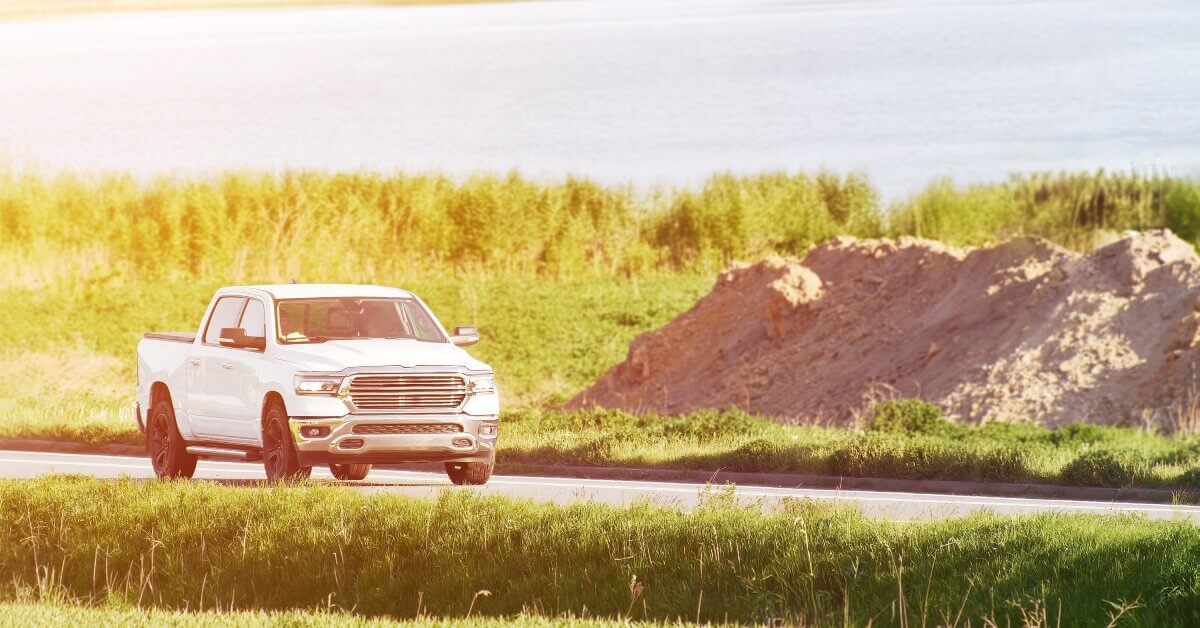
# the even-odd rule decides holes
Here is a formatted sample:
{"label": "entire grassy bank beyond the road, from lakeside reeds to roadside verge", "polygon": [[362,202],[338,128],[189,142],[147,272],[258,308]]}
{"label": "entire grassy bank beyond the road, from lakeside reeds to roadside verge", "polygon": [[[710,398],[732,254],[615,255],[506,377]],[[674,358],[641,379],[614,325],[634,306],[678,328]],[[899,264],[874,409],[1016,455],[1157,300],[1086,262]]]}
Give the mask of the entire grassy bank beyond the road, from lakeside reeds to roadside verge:
{"label": "entire grassy bank beyond the road, from lakeside reeds to roadside verge", "polygon": [[[517,177],[0,177],[0,366],[22,373],[0,383],[0,436],[138,442],[126,400],[140,333],[194,328],[217,286],[294,276],[402,285],[448,324],[479,324],[472,351],[510,406],[533,408],[506,418],[512,461],[1192,485],[1193,439],[1132,429],[882,433],[541,408],[689,307],[732,259],[802,255],[838,234],[1032,233],[1087,247],[1169,226],[1194,240],[1198,190],[1129,175],[940,181],[886,214],[866,181],[829,175],[714,177],[655,193]],[[1110,479],[1084,479],[1091,466]]]}

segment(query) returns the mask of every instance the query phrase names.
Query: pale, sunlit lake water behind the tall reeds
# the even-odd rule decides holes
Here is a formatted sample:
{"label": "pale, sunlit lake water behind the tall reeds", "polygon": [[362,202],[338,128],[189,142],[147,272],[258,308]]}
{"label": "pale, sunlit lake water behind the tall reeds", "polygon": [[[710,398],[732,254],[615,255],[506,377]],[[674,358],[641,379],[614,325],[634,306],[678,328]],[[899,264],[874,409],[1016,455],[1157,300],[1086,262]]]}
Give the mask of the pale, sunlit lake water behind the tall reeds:
{"label": "pale, sunlit lake water behind the tall reeds", "polygon": [[551,0],[0,24],[42,171],[1200,173],[1200,2]]}

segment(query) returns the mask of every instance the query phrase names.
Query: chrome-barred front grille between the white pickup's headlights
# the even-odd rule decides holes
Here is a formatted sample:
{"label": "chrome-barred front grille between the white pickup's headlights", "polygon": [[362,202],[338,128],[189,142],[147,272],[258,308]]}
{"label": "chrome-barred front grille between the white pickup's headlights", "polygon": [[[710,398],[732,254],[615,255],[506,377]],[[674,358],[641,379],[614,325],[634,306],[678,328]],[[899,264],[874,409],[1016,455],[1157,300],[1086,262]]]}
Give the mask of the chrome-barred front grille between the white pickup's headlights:
{"label": "chrome-barred front grille between the white pickup's headlights", "polygon": [[444,412],[467,399],[467,381],[461,375],[360,375],[347,393],[360,411]]}

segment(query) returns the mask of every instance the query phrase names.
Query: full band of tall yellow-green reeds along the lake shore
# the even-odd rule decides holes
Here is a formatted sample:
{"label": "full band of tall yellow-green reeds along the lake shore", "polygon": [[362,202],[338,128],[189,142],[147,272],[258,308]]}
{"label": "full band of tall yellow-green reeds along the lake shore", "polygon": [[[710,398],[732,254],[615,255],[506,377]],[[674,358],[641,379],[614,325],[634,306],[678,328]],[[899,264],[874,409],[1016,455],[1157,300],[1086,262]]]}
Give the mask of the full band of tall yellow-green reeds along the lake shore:
{"label": "full band of tall yellow-green reeds along the lake shore", "polygon": [[714,273],[835,235],[1090,249],[1122,229],[1200,237],[1200,183],[1127,173],[930,184],[888,211],[859,175],[720,174],[634,190],[517,174],[228,173],[211,179],[0,173],[0,286],[128,281],[613,277]]}

